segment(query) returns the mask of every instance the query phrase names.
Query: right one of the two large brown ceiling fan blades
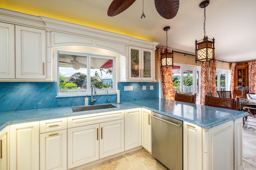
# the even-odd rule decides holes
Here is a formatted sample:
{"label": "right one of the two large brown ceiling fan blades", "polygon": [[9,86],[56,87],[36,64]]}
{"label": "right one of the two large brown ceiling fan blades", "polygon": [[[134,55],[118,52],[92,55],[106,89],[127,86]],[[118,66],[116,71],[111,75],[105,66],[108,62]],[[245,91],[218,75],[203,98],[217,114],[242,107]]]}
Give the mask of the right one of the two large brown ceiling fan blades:
{"label": "right one of the two large brown ceiling fan blades", "polygon": [[156,11],[165,19],[172,19],[179,9],[179,0],[155,0]]}

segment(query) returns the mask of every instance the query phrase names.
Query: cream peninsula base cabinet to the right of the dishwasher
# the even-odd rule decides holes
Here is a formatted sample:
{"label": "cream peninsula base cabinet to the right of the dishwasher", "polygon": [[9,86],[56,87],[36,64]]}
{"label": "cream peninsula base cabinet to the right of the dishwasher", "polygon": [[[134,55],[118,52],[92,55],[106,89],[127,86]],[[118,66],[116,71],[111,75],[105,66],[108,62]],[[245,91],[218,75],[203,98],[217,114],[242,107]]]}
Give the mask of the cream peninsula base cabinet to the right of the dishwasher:
{"label": "cream peninsula base cabinet to the right of the dishwasher", "polygon": [[183,122],[183,169],[242,170],[241,135],[242,119],[210,129]]}

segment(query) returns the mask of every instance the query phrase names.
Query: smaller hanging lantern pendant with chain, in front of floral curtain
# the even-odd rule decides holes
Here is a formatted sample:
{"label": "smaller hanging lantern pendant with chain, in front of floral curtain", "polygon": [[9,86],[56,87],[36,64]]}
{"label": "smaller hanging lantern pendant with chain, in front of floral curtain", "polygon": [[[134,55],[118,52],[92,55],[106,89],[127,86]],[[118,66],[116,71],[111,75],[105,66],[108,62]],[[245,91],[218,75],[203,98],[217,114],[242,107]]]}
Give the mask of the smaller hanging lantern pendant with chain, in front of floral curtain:
{"label": "smaller hanging lantern pendant with chain, in front of floral curtain", "polygon": [[170,67],[173,66],[173,50],[172,52],[168,52],[168,36],[167,31],[170,30],[170,27],[164,27],[164,31],[166,31],[166,49],[164,53],[161,53],[161,67]]}

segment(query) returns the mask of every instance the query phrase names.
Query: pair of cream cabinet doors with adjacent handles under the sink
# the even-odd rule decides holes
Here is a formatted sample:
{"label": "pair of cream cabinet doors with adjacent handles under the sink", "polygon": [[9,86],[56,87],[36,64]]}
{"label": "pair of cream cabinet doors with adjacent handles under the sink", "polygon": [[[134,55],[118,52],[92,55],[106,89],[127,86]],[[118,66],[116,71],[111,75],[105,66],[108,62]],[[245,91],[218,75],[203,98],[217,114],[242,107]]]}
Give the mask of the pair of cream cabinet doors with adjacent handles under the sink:
{"label": "pair of cream cabinet doors with adjacent handles under the sink", "polygon": [[68,129],[68,168],[124,151],[124,119]]}

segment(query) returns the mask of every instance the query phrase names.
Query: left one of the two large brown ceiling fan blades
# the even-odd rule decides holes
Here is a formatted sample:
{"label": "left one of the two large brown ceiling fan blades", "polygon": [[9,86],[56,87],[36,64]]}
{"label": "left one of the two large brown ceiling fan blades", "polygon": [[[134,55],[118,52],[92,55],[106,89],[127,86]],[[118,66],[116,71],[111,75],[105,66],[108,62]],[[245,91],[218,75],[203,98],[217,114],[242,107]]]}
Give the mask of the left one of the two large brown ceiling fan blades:
{"label": "left one of the two large brown ceiling fan blades", "polygon": [[135,0],[113,0],[108,7],[108,16],[113,17],[120,14],[129,8],[134,2]]}

